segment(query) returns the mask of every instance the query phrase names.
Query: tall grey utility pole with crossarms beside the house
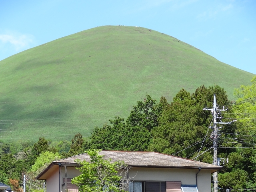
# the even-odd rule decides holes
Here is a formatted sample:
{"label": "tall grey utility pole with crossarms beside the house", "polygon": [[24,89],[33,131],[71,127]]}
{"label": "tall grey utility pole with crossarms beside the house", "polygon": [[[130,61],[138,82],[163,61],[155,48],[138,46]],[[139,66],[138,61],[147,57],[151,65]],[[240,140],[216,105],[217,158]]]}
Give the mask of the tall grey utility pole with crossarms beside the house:
{"label": "tall grey utility pole with crossarms beside the house", "polygon": [[[213,131],[211,134],[211,138],[213,138],[213,164],[218,165],[218,156],[217,156],[217,148],[218,148],[218,132],[219,129],[217,127],[217,124],[231,124],[232,122],[235,122],[236,120],[233,120],[231,122],[222,122],[222,117],[219,117],[221,111],[226,111],[225,107],[222,107],[222,109],[218,109],[216,104],[216,94],[213,95],[213,108],[208,109],[204,108],[203,110],[210,110],[212,112],[213,116]],[[217,118],[220,120],[220,122],[217,122]],[[218,172],[213,173],[213,189],[214,192],[218,192]]]}

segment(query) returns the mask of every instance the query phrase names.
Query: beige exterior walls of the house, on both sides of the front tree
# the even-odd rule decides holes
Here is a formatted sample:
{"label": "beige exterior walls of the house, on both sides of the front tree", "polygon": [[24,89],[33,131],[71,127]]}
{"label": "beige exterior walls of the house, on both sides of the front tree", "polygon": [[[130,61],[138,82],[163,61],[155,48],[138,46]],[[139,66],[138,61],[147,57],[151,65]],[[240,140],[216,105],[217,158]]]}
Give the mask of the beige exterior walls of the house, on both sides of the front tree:
{"label": "beige exterior walls of the house, on both sides of the front tree", "polygon": [[[197,169],[168,169],[168,168],[131,168],[129,177],[134,177],[132,180],[137,181],[181,181],[181,184],[188,185],[196,184]],[[80,175],[79,170],[75,167],[67,167],[67,178],[73,178]],[[198,173],[198,191],[211,192],[211,173],[210,170],[201,170]],[[62,178],[65,178],[65,167],[61,168],[61,184]],[[59,170],[55,170],[46,180],[47,192],[58,192],[59,190]],[[65,191],[65,186],[63,190]]]}

